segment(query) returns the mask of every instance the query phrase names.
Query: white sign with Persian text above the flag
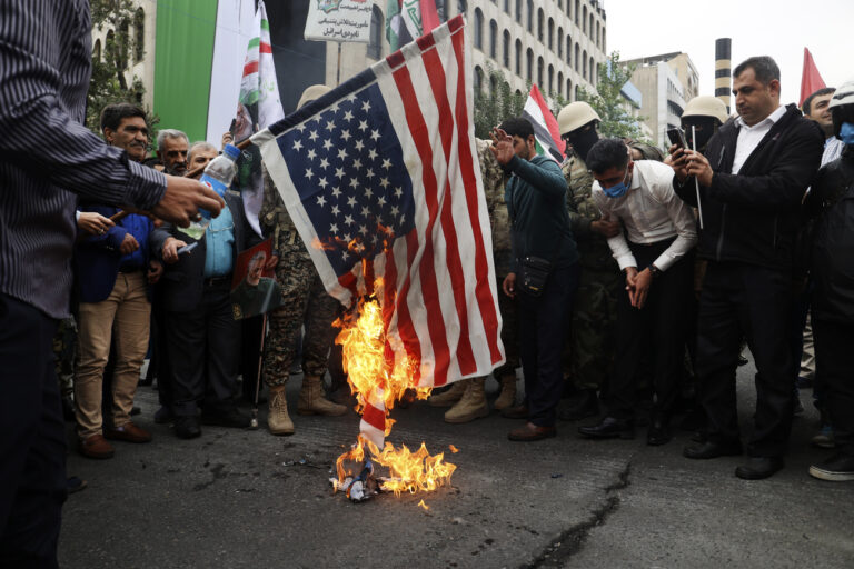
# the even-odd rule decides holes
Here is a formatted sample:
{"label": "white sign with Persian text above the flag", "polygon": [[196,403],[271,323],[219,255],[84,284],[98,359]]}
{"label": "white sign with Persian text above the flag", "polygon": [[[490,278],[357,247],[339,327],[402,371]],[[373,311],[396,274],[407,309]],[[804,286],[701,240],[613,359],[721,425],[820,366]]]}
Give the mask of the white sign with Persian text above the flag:
{"label": "white sign with Persian text above the flag", "polygon": [[368,0],[311,0],[306,19],[307,40],[370,41],[370,9]]}

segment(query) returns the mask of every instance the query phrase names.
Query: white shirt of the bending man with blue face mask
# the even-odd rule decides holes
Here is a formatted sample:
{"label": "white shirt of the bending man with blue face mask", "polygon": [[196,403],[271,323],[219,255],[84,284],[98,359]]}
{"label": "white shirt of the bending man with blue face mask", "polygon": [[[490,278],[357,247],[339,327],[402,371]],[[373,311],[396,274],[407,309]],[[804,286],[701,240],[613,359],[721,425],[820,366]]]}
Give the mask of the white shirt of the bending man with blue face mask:
{"label": "white shirt of the bending man with blue face mask", "polygon": [[[697,242],[694,213],[673,191],[673,169],[667,164],[638,160],[624,196],[608,198],[599,182],[594,181],[593,199],[603,216],[623,221],[633,243],[655,243],[676,236],[676,240],[655,260],[654,264],[662,271],[666,271]],[[626,267],[645,269],[637,267],[623,232],[608,239],[608,246],[620,270]]]}

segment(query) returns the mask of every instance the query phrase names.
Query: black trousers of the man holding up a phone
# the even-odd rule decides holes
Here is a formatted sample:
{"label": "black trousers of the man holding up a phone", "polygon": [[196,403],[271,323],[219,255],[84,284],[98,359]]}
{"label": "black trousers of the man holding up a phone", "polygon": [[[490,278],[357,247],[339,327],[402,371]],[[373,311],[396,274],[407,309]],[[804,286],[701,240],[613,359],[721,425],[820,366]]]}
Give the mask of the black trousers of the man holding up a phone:
{"label": "black trousers of the man holding up a phone", "polygon": [[792,279],[786,271],[709,261],[699,302],[697,377],[711,440],[739,438],[735,368],[745,336],[757,370],[755,426],[747,452],[785,453],[794,408],[791,309]]}

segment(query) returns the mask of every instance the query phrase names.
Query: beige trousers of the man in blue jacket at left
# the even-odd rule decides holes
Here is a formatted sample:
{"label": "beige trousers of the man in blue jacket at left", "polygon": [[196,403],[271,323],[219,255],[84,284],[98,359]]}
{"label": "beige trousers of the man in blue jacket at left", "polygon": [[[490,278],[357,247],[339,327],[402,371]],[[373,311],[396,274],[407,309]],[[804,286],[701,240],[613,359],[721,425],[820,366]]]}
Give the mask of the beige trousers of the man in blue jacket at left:
{"label": "beige trousers of the man in blue jacket at left", "polygon": [[101,392],[103,368],[115,340],[116,369],[112,376],[112,409],[107,410],[113,427],[130,421],[139,369],[148,350],[151,303],[146,296],[142,271],[119,273],[116,286],[101,302],[80,302],[77,342],[75,402],[77,431],[81,440],[103,429]]}

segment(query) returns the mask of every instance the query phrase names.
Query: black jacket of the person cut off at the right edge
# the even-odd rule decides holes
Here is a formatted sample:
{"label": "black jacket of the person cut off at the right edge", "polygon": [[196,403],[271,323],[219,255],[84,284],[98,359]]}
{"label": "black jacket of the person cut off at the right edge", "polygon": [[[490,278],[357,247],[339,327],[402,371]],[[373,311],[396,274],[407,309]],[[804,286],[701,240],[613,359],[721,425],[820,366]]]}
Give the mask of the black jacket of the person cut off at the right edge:
{"label": "black jacket of the person cut off at the right edge", "polygon": [[806,209],[815,217],[813,318],[854,323],[854,148],[818,170]]}

